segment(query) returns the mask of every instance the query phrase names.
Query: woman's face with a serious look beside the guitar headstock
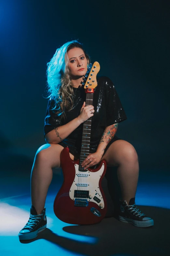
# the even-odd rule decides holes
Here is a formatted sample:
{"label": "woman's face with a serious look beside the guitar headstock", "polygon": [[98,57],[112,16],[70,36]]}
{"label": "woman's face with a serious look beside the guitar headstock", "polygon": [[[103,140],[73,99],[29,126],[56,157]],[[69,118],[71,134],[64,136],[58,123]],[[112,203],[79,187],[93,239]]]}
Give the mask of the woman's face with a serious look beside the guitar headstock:
{"label": "woman's face with a serious look beside the guitar headstock", "polygon": [[70,77],[83,77],[87,72],[87,59],[83,50],[81,48],[73,48],[67,52],[67,55]]}

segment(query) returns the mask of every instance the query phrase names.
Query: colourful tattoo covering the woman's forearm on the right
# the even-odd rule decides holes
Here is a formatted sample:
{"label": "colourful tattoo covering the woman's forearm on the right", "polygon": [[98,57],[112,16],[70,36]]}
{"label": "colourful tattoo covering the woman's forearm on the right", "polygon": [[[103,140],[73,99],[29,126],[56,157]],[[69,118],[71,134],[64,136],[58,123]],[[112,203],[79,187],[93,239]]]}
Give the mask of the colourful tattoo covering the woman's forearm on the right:
{"label": "colourful tattoo covering the woman's forearm on the right", "polygon": [[[115,136],[115,133],[118,129],[118,123],[114,124],[114,125],[110,125],[108,126],[103,135],[102,135],[102,138],[99,142],[99,144],[101,144],[102,142],[106,142],[106,146],[107,144],[111,141],[111,139],[113,139],[113,137]],[[104,147],[104,149],[102,151],[105,151],[105,148],[106,146]]]}

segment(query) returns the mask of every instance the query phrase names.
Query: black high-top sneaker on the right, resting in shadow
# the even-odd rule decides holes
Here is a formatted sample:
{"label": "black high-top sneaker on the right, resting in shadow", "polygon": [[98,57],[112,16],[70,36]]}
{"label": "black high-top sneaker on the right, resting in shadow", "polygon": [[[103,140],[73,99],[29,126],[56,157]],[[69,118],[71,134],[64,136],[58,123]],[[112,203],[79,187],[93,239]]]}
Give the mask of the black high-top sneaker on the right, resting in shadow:
{"label": "black high-top sneaker on the right, resting in shadow", "polygon": [[135,205],[135,197],[131,198],[129,205],[126,201],[120,201],[120,214],[119,220],[122,222],[130,223],[135,227],[146,228],[153,226],[153,219],[141,213]]}

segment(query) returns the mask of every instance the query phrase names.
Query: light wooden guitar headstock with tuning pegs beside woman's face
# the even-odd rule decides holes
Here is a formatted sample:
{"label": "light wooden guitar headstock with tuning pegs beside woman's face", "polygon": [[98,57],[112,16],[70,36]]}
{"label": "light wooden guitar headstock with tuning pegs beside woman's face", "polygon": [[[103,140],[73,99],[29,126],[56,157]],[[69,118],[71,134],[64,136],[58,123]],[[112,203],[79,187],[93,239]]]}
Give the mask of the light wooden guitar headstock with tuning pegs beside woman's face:
{"label": "light wooden guitar headstock with tuning pegs beside woman's face", "polygon": [[95,61],[92,65],[92,63],[89,64],[89,67],[87,69],[83,85],[84,89],[86,88],[95,88],[97,86],[97,79],[96,76],[100,70],[99,62]]}

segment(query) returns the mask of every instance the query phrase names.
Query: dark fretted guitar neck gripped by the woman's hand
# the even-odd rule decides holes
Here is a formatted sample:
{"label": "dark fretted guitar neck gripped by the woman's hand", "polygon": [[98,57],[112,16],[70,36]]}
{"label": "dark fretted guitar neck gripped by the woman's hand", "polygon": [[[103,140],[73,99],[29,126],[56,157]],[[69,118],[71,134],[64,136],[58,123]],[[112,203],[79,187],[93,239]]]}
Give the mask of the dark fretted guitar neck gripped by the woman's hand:
{"label": "dark fretted guitar neck gripped by the woman's hand", "polygon": [[[88,106],[88,105],[93,105],[93,93],[86,94],[86,105],[85,106]],[[80,171],[87,171],[81,167],[81,163],[89,155],[89,152],[90,152],[91,125],[92,125],[92,117],[90,117],[83,124],[81,151],[80,151],[80,158],[79,158],[79,170]]]}

